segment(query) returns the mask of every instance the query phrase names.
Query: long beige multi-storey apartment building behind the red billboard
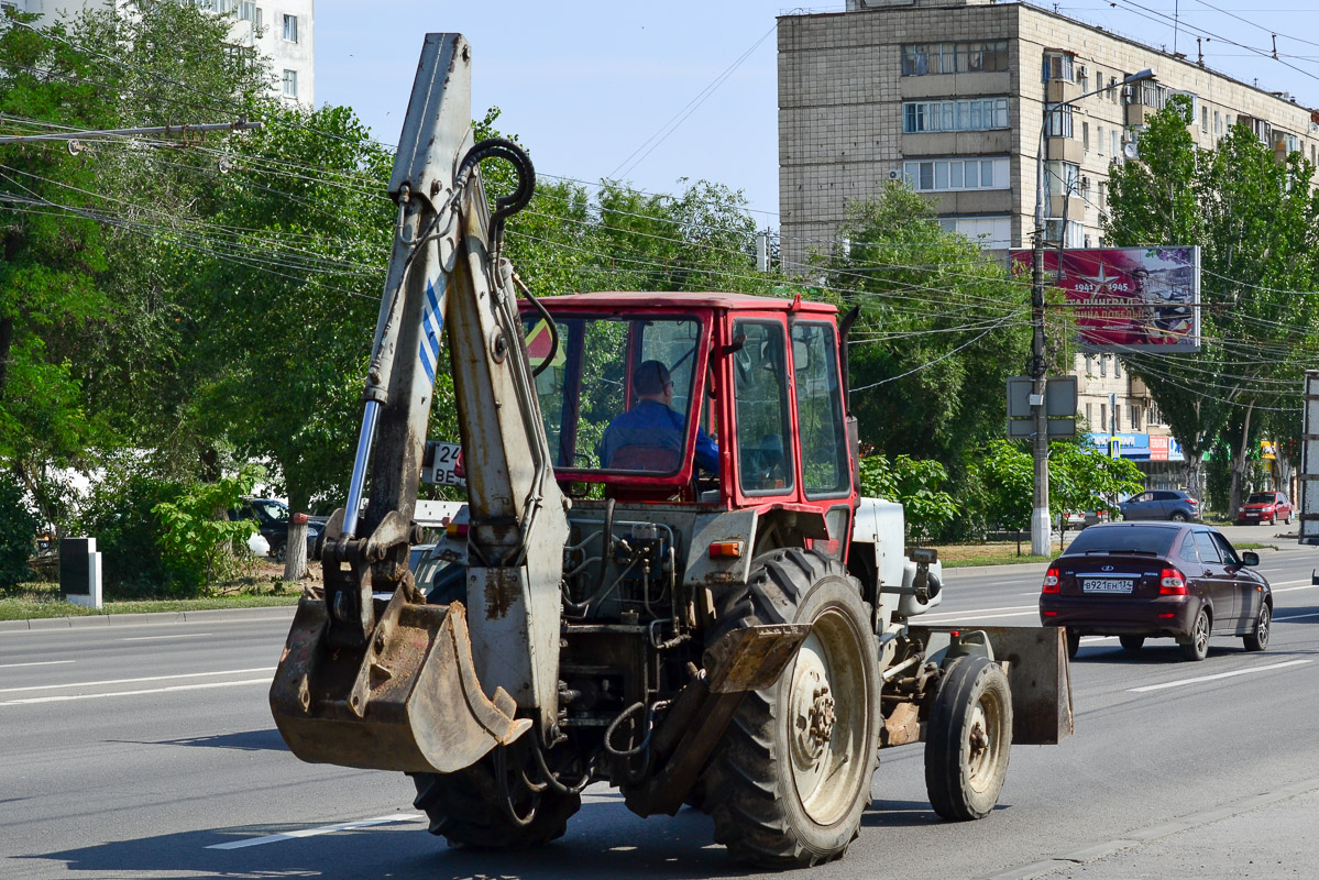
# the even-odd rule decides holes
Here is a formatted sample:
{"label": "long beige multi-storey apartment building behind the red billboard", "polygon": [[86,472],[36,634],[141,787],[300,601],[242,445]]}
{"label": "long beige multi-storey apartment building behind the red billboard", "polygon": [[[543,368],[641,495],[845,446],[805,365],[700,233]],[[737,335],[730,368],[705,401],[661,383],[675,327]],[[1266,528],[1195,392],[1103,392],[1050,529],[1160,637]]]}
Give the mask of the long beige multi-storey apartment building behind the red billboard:
{"label": "long beige multi-storey apartment building behind the red billboard", "polygon": [[[1120,86],[1145,69],[1153,79]],[[1319,113],[1290,95],[1039,7],[847,0],[845,12],[785,15],[783,265],[791,270],[813,249],[827,252],[847,204],[890,181],[926,194],[946,228],[987,249],[1029,247],[1041,142],[1046,241],[1100,247],[1109,170],[1140,156],[1146,119],[1177,92],[1190,98],[1200,146],[1212,148],[1241,123],[1279,160],[1295,150],[1319,160]],[[1175,486],[1181,449],[1144,383],[1111,354],[1076,355],[1074,373],[1092,441],[1107,446],[1117,435],[1151,487]]]}

